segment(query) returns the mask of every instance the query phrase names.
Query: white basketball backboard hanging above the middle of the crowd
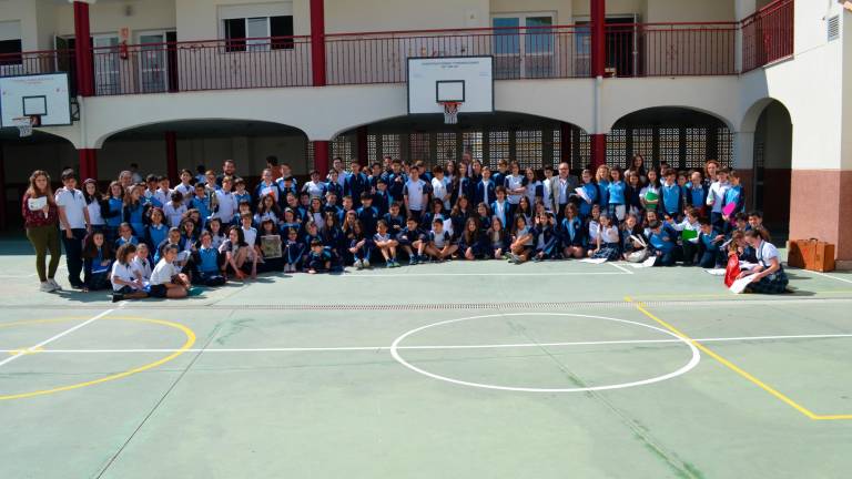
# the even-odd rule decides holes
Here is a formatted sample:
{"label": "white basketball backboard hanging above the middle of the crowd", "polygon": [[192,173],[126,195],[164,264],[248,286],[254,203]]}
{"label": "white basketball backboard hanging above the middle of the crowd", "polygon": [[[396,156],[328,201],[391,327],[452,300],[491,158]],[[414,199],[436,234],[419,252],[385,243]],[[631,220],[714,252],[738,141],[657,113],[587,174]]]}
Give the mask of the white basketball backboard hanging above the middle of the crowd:
{"label": "white basketball backboard hanging above the middle of the crowd", "polygon": [[440,101],[460,101],[459,113],[494,112],[494,59],[408,59],[408,113],[444,113]]}

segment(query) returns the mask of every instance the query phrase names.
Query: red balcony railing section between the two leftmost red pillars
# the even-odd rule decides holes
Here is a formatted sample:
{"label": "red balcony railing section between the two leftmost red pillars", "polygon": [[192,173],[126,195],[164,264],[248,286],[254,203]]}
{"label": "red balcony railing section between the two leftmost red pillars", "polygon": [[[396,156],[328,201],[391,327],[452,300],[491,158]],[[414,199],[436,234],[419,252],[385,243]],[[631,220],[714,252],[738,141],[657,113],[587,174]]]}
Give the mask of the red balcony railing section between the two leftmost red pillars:
{"label": "red balcony railing section between the two leftmost red pillars", "polygon": [[305,86],[311,38],[181,41],[93,49],[97,95]]}

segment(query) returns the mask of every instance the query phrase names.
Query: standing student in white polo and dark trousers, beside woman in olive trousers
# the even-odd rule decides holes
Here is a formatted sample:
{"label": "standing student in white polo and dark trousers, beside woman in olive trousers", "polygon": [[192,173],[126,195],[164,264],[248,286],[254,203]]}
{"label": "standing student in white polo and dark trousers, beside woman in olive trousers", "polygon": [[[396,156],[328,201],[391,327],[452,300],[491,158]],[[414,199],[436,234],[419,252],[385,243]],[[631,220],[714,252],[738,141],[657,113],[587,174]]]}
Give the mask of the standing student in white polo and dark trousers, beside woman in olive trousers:
{"label": "standing student in white polo and dark trousers, beside woman in olive trousers", "polygon": [[90,222],[89,208],[83,193],[77,190],[74,171],[63,171],[61,179],[62,187],[57,191],[53,201],[58,208],[60,237],[65,249],[68,281],[73,288],[83,288],[84,282],[80,281],[80,273],[83,269],[83,238]]}

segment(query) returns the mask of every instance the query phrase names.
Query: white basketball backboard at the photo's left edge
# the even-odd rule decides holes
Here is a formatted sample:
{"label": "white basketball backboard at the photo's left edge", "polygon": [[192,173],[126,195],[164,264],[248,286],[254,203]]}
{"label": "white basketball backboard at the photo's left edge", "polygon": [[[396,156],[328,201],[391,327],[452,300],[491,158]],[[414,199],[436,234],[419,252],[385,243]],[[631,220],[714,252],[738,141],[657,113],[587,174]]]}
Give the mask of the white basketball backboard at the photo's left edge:
{"label": "white basketball backboard at the photo's left edge", "polygon": [[13,119],[41,115],[41,126],[71,124],[68,73],[0,78],[0,126]]}

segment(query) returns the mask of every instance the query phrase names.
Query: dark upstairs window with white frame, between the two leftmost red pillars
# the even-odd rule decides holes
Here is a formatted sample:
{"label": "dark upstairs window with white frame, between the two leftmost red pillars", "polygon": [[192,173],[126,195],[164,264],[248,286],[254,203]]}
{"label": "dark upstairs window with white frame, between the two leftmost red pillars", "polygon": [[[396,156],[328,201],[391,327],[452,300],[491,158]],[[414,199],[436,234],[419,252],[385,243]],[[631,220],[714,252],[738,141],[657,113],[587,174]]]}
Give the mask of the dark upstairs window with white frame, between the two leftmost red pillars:
{"label": "dark upstairs window with white frame, between the two leftmost red pillars", "polygon": [[293,49],[293,16],[224,19],[222,29],[229,52]]}

